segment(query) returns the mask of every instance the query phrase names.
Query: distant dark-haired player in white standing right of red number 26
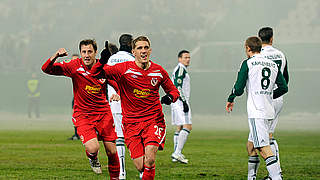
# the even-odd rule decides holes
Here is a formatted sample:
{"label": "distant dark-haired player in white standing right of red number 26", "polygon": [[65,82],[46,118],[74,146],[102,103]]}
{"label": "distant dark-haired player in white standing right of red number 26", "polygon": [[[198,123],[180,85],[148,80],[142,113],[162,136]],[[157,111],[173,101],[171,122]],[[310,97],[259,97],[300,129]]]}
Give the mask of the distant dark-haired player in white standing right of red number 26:
{"label": "distant dark-haired player in white standing right of red number 26", "polygon": [[187,67],[190,65],[189,51],[180,51],[178,54],[178,62],[171,78],[180,92],[179,99],[171,104],[172,125],[177,126],[173,136],[174,152],[171,158],[173,162],[179,161],[187,164],[188,159],[182,154],[182,149],[192,130],[191,110],[189,106],[190,76],[187,72]]}

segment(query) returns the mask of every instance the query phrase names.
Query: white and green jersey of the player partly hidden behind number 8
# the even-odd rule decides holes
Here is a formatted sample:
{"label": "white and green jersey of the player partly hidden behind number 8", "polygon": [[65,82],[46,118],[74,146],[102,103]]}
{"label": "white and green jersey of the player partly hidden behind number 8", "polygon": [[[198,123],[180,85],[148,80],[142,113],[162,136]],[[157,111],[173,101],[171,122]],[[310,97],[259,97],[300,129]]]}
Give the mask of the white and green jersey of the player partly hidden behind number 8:
{"label": "white and green jersey of the player partly hidden behind number 8", "polygon": [[[288,66],[287,60],[285,55],[279,51],[278,49],[272,47],[271,45],[264,46],[261,49],[260,54],[265,58],[272,60],[273,62],[277,63],[284,79],[286,80],[287,84],[289,82],[289,73],[288,73]],[[276,87],[275,87],[276,88]],[[283,97],[279,97],[279,100],[282,100]]]}

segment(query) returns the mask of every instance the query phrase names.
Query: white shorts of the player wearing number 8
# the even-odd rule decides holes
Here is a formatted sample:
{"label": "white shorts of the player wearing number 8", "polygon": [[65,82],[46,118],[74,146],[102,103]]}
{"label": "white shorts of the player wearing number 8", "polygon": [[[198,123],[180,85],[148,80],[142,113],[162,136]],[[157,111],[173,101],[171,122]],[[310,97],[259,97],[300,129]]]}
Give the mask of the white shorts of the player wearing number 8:
{"label": "white shorts of the player wearing number 8", "polygon": [[253,142],[254,148],[269,145],[268,120],[259,118],[248,118],[249,137],[248,141]]}

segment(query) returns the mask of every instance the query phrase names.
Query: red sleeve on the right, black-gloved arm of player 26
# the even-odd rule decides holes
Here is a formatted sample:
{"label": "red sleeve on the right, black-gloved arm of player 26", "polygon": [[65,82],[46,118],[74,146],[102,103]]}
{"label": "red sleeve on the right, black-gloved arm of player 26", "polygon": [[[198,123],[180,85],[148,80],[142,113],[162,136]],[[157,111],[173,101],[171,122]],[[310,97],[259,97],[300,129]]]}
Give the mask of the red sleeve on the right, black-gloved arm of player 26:
{"label": "red sleeve on the right, black-gloved arm of player 26", "polygon": [[176,86],[172,83],[168,72],[162,69],[163,81],[161,83],[161,87],[163,88],[164,92],[167,94],[171,94],[173,97],[173,102],[176,102],[180,96],[179,90]]}

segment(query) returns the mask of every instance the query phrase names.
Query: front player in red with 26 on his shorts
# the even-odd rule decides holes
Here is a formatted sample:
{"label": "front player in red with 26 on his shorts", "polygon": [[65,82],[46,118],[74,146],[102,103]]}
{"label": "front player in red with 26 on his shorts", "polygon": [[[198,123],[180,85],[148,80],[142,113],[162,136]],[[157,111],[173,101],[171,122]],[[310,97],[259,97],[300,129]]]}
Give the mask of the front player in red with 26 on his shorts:
{"label": "front player in red with 26 on his shorts", "polygon": [[[95,77],[107,77],[118,83],[123,114],[125,143],[142,179],[155,177],[156,153],[163,149],[166,125],[159,100],[160,86],[166,92],[161,103],[171,104],[179,97],[167,71],[150,58],[150,41],[140,36],[132,42],[135,61],[103,66],[100,61],[92,68]],[[103,70],[102,70],[103,68]]]}

